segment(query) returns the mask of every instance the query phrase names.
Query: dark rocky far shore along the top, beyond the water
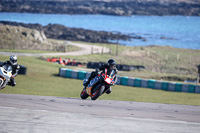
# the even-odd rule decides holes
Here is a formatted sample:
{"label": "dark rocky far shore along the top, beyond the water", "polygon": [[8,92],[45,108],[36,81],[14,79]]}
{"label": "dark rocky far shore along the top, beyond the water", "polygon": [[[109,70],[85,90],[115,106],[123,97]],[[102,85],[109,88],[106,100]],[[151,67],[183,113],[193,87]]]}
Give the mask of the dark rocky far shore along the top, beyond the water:
{"label": "dark rocky far shore along the top, beyond the water", "polygon": [[199,0],[1,0],[0,12],[200,16]]}

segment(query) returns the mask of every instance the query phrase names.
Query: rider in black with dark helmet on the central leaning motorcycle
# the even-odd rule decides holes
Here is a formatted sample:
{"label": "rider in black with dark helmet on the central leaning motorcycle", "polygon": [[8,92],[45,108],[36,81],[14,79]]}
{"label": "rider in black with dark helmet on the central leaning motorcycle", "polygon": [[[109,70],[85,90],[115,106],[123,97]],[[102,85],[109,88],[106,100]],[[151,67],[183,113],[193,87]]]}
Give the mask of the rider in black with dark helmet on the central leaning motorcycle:
{"label": "rider in black with dark helmet on the central leaning motorcycle", "polygon": [[[84,83],[84,86],[88,86],[88,84],[90,83],[90,81],[98,75],[98,72],[100,71],[104,71],[105,68],[107,68],[107,70],[109,71],[109,69],[113,69],[115,71],[115,78],[114,78],[114,84],[117,82],[117,73],[118,73],[118,70],[116,68],[116,62],[115,60],[113,59],[109,59],[107,64],[104,64],[102,66],[100,66],[98,69],[96,69],[96,71],[93,71],[90,75],[90,77],[88,78],[88,81]],[[113,84],[113,86],[114,86]],[[107,89],[106,93],[107,94],[110,94],[112,89],[110,87],[110,85],[106,85],[105,89]]]}

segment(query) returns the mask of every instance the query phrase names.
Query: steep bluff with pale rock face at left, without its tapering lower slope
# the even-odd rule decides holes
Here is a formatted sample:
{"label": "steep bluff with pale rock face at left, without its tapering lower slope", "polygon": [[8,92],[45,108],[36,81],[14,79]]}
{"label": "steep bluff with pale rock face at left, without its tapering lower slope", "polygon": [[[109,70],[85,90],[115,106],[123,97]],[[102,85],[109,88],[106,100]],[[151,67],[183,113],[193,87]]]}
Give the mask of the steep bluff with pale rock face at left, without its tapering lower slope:
{"label": "steep bluff with pale rock face at left, without its tapering lower slope", "polygon": [[47,38],[42,31],[24,27],[0,25],[0,48],[47,50]]}

